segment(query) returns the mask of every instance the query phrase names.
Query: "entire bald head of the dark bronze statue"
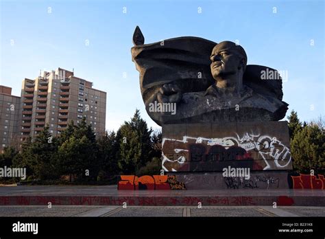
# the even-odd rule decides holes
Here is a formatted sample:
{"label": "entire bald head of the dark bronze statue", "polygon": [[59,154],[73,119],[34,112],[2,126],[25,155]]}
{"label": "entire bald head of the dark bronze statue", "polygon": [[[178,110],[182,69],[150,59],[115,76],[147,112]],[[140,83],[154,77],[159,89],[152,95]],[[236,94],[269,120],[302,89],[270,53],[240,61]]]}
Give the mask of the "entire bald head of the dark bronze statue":
{"label": "entire bald head of the dark bronze statue", "polygon": [[[231,41],[223,41],[213,47],[211,60],[211,73],[215,80],[228,80],[232,76],[242,76],[247,64],[245,50]],[[231,80],[230,80],[231,81]],[[229,83],[229,82],[228,82]]]}

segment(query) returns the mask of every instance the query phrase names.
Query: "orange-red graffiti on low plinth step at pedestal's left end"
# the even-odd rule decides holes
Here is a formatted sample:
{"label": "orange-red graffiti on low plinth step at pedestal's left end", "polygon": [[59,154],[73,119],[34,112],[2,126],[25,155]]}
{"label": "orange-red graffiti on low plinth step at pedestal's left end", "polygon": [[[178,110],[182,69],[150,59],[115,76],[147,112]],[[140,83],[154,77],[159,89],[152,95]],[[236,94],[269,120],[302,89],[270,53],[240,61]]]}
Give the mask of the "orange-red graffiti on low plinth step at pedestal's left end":
{"label": "orange-red graffiti on low plinth step at pedestal's left end", "polygon": [[118,190],[186,190],[175,175],[121,175]]}

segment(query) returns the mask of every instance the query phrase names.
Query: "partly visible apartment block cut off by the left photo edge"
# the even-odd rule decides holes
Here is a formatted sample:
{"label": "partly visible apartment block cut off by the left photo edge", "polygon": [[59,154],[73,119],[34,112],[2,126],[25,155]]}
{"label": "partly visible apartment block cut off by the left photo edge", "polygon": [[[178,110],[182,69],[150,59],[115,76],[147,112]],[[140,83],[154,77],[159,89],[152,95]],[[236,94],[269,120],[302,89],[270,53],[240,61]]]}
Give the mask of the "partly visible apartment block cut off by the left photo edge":
{"label": "partly visible apartment block cut off by the left photo edge", "polygon": [[11,144],[19,144],[19,114],[21,98],[11,94],[10,87],[0,85],[0,152]]}

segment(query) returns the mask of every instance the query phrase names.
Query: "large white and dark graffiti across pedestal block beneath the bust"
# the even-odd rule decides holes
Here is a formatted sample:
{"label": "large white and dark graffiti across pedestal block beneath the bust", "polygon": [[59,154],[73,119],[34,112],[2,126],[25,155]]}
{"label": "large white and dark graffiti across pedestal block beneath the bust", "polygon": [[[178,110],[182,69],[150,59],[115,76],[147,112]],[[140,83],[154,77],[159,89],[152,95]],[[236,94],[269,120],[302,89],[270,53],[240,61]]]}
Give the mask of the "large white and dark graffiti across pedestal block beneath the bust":
{"label": "large white and dark graffiti across pedestal block beneath the bust", "polygon": [[244,167],[250,170],[291,169],[291,153],[285,144],[269,135],[245,133],[242,137],[163,138],[163,170],[221,171]]}

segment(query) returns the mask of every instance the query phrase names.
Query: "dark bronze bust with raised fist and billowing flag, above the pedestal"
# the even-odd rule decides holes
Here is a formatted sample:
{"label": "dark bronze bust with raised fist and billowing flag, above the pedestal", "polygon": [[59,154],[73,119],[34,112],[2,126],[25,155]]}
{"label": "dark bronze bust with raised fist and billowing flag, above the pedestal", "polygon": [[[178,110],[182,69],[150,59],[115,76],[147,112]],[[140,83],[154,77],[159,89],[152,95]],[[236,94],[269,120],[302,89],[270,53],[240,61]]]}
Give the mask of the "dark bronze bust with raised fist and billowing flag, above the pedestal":
{"label": "dark bronze bust with raised fist and billowing flag, above the pedestal", "polygon": [[[140,73],[145,109],[158,125],[278,121],[282,102],[278,71],[247,65],[247,55],[231,41],[214,43],[185,36],[145,44],[139,27],[132,61]],[[264,72],[276,79],[264,80]]]}

